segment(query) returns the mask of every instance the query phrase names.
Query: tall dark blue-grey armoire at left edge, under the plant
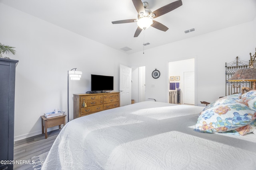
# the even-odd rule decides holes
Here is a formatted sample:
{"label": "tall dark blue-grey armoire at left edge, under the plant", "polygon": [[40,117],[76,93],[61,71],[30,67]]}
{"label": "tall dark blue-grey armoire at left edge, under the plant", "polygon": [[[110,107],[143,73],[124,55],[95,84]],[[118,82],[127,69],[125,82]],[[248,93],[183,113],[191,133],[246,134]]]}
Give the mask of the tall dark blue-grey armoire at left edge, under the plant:
{"label": "tall dark blue-grey armoire at left edge, under the plant", "polygon": [[18,61],[0,58],[0,170],[13,169],[15,69]]}

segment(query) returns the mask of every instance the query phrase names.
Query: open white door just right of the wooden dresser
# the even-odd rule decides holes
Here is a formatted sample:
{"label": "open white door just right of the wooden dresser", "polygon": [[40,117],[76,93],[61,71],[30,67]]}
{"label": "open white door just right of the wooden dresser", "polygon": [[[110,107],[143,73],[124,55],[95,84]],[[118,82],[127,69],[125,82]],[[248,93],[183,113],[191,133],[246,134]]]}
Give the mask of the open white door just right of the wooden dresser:
{"label": "open white door just right of the wooden dresser", "polygon": [[120,106],[131,104],[132,68],[120,64]]}

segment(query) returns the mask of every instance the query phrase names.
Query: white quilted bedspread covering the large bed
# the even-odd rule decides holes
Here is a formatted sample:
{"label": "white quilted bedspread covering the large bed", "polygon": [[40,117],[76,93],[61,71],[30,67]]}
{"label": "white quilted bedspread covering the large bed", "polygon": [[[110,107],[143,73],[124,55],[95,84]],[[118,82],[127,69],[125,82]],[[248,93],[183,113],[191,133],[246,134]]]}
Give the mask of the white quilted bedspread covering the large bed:
{"label": "white quilted bedspread covering the large bed", "polygon": [[203,108],[141,102],[74,119],[42,170],[255,170],[256,135],[194,131]]}

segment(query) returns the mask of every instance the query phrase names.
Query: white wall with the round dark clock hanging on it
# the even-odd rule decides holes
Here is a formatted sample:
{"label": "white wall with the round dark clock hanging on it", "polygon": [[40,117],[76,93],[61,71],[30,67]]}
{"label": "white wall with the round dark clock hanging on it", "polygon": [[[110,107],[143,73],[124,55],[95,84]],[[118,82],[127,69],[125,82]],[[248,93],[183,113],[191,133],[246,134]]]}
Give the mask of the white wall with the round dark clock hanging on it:
{"label": "white wall with the round dark clock hanging on it", "polygon": [[[168,62],[195,58],[196,100],[212,102],[225,95],[225,63],[250,60],[249,53],[255,53],[256,24],[252,22],[214,31],[190,39],[162,45],[153,49],[129,55],[130,66],[146,66],[146,98],[168,102]],[[156,62],[157,59],[157,62]],[[154,79],[151,72],[158,68],[161,76]]]}

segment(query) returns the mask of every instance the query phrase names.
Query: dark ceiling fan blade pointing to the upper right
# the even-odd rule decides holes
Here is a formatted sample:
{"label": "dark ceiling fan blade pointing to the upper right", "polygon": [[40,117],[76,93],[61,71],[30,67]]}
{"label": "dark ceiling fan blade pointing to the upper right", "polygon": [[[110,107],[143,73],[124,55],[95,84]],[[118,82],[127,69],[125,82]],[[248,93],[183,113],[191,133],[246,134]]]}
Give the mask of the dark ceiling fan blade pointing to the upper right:
{"label": "dark ceiling fan blade pointing to the upper right", "polygon": [[157,10],[153,11],[151,14],[155,14],[155,16],[153,18],[162,16],[172,10],[175,10],[176,8],[182,6],[182,1],[181,0],[177,0],[175,2],[172,2],[166,6],[162,6],[161,8],[158,8]]}

